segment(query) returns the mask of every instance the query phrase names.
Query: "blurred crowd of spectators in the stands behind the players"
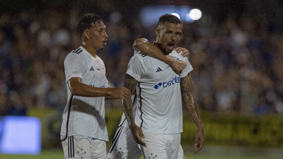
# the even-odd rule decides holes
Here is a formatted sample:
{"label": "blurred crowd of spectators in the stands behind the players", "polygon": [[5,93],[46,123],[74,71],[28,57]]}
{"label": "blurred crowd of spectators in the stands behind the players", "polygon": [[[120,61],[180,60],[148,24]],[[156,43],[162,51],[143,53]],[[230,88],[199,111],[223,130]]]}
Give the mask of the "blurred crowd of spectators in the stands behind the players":
{"label": "blurred crowd of spectators in the stands behind the players", "polygon": [[[64,59],[81,44],[76,25],[81,10],[46,9],[0,14],[0,115],[26,115],[29,107],[64,109]],[[99,15],[99,14],[98,14]],[[155,27],[123,15],[101,15],[108,42],[98,51],[110,87],[121,87],[136,38],[155,40]],[[120,17],[121,20],[117,20]],[[179,47],[190,51],[199,108],[241,114],[283,113],[283,41],[266,19],[221,22],[212,16],[183,23]],[[107,109],[121,100],[107,103]]]}

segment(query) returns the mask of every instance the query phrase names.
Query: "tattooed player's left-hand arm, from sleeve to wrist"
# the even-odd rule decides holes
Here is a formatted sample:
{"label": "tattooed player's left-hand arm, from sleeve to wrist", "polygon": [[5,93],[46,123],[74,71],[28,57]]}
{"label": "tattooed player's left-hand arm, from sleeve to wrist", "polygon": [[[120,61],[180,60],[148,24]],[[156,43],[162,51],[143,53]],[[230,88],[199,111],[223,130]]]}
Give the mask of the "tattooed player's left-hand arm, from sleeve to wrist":
{"label": "tattooed player's left-hand arm, from sleeve to wrist", "polygon": [[[138,84],[138,81],[136,79],[134,79],[132,76],[126,74],[124,87],[126,87],[130,90],[131,95],[134,94],[134,91],[136,90],[137,84]],[[131,95],[128,96],[127,100],[123,100],[123,110],[124,110],[125,116],[126,116],[129,124],[134,122],[133,104],[132,104]]]}

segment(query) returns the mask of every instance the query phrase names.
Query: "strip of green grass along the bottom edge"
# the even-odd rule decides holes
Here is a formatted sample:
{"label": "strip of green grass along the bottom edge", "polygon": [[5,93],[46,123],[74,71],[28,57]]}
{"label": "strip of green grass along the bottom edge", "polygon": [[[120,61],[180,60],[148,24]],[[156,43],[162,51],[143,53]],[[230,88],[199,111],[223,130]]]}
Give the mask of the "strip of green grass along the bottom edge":
{"label": "strip of green grass along the bottom edge", "polygon": [[[229,146],[207,146],[199,153],[193,153],[193,147],[183,145],[186,159],[282,159],[282,149],[276,148],[246,148]],[[40,155],[6,155],[0,154],[0,159],[64,159],[61,149],[43,150]],[[141,157],[143,159],[143,157]]]}

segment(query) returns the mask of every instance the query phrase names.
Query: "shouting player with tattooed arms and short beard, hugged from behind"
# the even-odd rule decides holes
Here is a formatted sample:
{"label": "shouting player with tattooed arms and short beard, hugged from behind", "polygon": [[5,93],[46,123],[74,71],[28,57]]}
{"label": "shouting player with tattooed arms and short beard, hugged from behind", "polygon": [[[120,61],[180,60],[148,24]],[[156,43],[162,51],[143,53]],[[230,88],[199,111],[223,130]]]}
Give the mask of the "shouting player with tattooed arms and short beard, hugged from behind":
{"label": "shouting player with tattooed arms and short beard, hugged from behind", "polygon": [[132,100],[128,97],[123,100],[124,113],[145,159],[177,159],[180,133],[183,131],[182,102],[188,107],[198,128],[195,152],[200,151],[205,142],[190,74],[193,68],[187,58],[174,50],[182,29],[182,22],[176,16],[162,15],[153,43],[164,54],[186,61],[182,73],[174,72],[168,64],[143,53],[137,53],[131,58],[126,71],[124,87],[133,93],[138,85],[138,107],[134,121]]}

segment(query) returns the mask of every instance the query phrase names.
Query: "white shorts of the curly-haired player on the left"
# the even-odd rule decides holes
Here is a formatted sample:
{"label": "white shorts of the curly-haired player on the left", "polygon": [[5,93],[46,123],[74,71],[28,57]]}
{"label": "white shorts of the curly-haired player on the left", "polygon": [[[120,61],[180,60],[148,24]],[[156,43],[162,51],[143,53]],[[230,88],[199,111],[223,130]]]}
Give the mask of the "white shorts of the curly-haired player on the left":
{"label": "white shorts of the curly-haired player on the left", "polygon": [[62,146],[65,159],[107,159],[103,140],[74,135],[63,141]]}

